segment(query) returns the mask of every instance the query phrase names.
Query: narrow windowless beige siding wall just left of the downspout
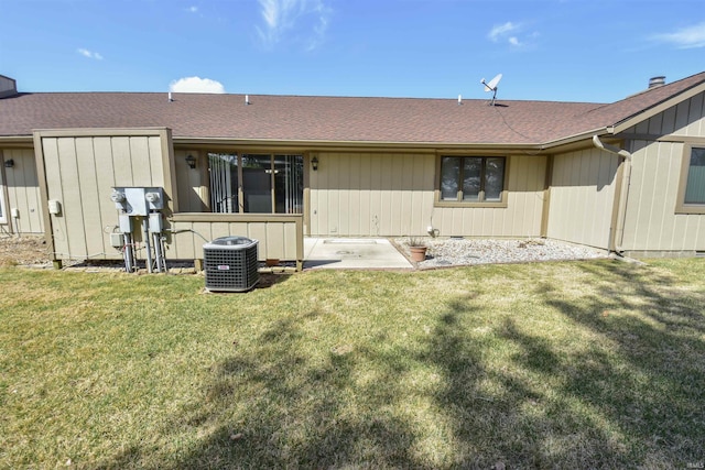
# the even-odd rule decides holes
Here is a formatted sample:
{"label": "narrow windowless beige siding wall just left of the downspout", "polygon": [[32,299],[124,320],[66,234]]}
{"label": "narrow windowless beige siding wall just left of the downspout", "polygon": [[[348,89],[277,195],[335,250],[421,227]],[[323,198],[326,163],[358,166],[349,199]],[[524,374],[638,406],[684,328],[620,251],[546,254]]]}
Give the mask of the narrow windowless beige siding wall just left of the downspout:
{"label": "narrow windowless beige siding wall just left of the downspout", "polygon": [[547,237],[607,249],[619,157],[589,149],[556,155]]}

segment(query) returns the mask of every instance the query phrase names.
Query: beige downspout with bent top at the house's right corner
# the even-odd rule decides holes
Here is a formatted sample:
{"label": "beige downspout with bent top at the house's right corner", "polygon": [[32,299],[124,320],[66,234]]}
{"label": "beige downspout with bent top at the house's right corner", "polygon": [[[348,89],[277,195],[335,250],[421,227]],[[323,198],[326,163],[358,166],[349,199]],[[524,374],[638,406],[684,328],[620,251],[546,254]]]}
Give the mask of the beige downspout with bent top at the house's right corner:
{"label": "beige downspout with bent top at the house's right corner", "polygon": [[593,145],[601,151],[618,155],[621,159],[617,170],[615,204],[612,205],[612,219],[609,229],[609,251],[621,255],[625,251],[622,243],[625,241],[627,200],[629,198],[629,184],[631,182],[631,153],[604,143],[597,134],[593,135]]}

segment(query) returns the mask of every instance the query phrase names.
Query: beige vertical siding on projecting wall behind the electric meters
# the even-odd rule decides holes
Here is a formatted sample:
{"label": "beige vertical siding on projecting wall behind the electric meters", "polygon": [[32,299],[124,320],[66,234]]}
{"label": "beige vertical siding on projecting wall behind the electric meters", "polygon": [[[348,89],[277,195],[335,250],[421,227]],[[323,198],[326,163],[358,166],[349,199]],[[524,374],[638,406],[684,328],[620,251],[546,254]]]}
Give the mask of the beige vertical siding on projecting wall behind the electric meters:
{"label": "beige vertical siding on projecting wall behind the electric meters", "polygon": [[162,132],[105,133],[39,133],[47,199],[62,205],[59,215],[50,216],[59,260],[121,259],[109,238],[119,214],[110,200],[112,187],[165,185],[162,167],[167,149],[162,149]]}

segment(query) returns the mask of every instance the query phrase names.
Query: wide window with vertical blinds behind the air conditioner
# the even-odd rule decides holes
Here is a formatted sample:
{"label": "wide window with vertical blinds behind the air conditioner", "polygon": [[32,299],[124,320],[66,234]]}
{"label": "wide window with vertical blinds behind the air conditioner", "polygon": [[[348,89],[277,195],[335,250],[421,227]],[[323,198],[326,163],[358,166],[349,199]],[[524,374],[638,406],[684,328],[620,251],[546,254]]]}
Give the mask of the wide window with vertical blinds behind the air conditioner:
{"label": "wide window with vertical blinds behind the air conditioner", "polygon": [[213,212],[303,212],[303,155],[208,153],[208,164]]}

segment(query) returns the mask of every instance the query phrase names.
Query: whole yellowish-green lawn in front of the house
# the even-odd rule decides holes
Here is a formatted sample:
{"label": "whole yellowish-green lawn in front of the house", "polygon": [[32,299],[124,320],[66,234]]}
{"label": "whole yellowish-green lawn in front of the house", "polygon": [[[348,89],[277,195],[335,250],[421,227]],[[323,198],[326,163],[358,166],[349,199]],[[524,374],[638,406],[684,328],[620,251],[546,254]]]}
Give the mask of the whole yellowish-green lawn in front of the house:
{"label": "whole yellowish-green lawn in front of the house", "polygon": [[0,468],[686,468],[705,260],[0,270]]}

